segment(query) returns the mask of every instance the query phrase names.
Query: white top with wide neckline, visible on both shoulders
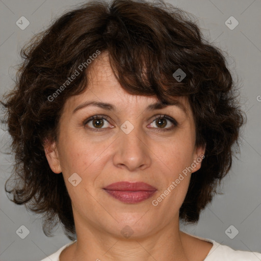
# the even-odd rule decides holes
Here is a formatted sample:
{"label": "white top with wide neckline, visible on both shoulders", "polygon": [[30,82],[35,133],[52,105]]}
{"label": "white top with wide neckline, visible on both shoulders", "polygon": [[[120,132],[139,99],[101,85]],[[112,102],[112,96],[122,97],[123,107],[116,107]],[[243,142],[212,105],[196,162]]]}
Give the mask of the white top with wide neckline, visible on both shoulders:
{"label": "white top with wide neckline, visible on both shoulders", "polygon": [[[190,234],[190,236],[213,243],[213,247],[211,248],[210,252],[208,252],[206,258],[203,261],[260,261],[261,260],[261,253],[234,250],[228,246],[221,245],[212,239],[200,238],[194,236],[193,234]],[[62,250],[68,247],[69,245],[73,244],[74,242],[76,242],[76,240],[61,247],[57,252],[47,256],[41,261],[60,261],[59,256]]]}

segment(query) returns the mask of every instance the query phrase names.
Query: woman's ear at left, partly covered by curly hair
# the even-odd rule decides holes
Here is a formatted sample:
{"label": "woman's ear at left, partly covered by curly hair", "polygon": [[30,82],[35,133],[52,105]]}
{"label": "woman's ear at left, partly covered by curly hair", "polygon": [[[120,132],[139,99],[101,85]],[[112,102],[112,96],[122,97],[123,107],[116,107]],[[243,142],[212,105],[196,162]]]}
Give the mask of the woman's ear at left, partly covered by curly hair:
{"label": "woman's ear at left, partly covered by curly hair", "polygon": [[44,147],[46,159],[49,163],[51,170],[57,174],[61,173],[62,169],[60,165],[56,142],[54,141],[53,143],[50,143],[48,140],[45,140],[43,147]]}

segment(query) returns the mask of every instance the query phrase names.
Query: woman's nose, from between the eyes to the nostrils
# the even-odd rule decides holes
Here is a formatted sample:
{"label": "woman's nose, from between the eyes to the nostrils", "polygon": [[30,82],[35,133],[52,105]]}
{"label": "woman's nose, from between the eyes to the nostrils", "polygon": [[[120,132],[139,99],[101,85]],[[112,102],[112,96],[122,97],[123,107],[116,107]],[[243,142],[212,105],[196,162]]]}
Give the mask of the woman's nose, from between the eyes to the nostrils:
{"label": "woman's nose, from between the eyes to the nostrils", "polygon": [[139,127],[134,127],[129,133],[124,132],[124,128],[122,129],[120,129],[116,141],[117,145],[113,156],[114,165],[128,171],[139,171],[148,168],[151,165],[152,152],[149,149],[149,139],[146,134],[142,133]]}

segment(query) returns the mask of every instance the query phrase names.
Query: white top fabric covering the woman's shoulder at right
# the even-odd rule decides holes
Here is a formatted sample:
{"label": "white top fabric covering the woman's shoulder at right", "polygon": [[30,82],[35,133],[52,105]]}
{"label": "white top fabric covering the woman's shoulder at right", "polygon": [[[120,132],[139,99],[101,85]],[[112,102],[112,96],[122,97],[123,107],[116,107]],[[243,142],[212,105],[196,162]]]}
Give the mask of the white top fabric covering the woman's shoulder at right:
{"label": "white top fabric covering the woman's shoulder at right", "polygon": [[213,247],[204,261],[260,261],[261,253],[234,250],[229,246],[221,245],[214,240]]}

